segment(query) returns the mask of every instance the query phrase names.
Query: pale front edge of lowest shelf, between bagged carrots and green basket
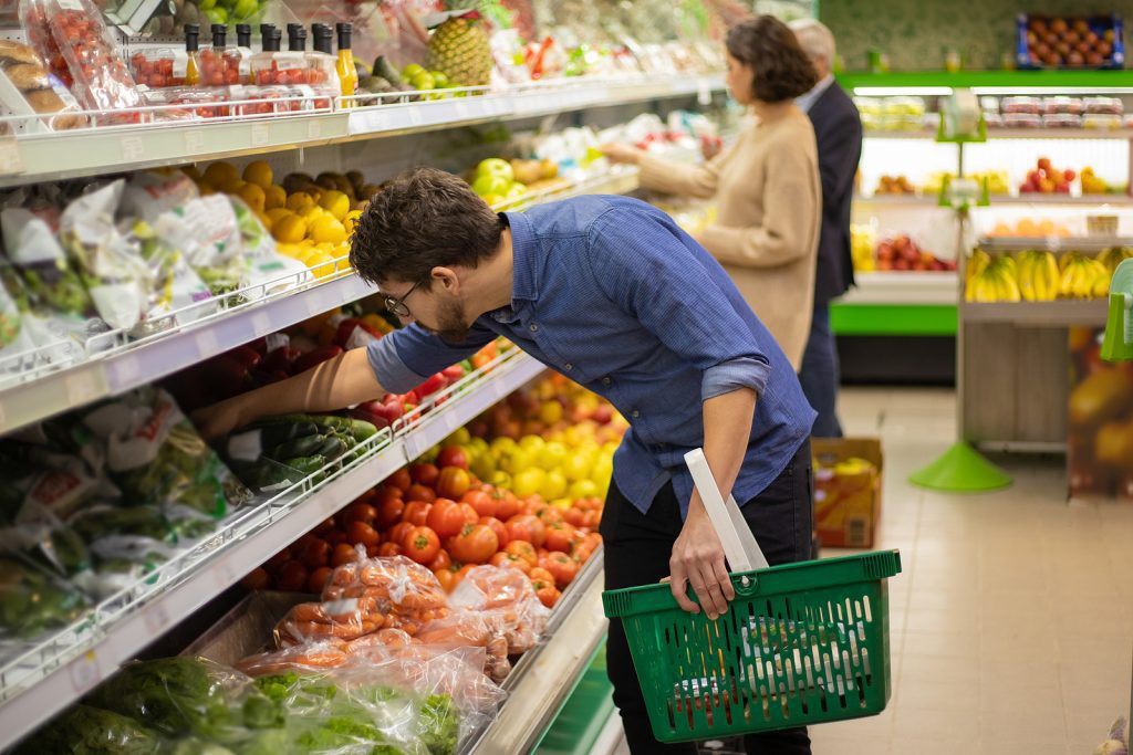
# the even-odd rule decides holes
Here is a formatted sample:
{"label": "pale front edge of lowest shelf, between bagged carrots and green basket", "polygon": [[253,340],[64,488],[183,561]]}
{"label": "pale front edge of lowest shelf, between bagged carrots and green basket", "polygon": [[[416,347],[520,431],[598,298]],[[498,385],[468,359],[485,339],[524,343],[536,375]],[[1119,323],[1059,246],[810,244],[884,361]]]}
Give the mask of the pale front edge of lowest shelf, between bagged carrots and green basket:
{"label": "pale front edge of lowest shelf, between bagged carrots and green basket", "polygon": [[465,753],[514,755],[539,743],[606,636],[602,589],[596,551],[555,606],[546,641],[525,653],[504,681],[508,701]]}

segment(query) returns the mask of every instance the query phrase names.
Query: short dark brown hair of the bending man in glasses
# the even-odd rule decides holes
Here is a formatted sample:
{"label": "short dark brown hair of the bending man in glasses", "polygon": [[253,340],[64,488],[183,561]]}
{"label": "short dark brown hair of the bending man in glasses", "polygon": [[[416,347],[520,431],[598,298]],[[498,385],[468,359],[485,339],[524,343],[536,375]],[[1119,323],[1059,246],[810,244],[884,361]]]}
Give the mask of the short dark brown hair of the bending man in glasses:
{"label": "short dark brown hair of the bending man in glasses", "polygon": [[503,221],[463,179],[433,168],[401,173],[370,200],[350,241],[350,264],[370,283],[428,289],[434,267],[476,267],[500,248]]}

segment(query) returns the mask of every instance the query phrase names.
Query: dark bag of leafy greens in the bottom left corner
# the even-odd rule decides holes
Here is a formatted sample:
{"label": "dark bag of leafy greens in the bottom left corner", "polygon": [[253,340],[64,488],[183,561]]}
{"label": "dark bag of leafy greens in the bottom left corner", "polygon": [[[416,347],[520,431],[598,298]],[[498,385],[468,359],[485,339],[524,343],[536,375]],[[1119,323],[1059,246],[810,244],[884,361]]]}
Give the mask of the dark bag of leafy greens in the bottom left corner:
{"label": "dark bag of leafy greens in the bottom left corner", "polygon": [[[161,736],[134,719],[94,707],[76,705],[41,727],[16,748],[16,755],[43,753],[116,753],[153,755],[161,750]],[[199,750],[198,750],[199,752]]]}

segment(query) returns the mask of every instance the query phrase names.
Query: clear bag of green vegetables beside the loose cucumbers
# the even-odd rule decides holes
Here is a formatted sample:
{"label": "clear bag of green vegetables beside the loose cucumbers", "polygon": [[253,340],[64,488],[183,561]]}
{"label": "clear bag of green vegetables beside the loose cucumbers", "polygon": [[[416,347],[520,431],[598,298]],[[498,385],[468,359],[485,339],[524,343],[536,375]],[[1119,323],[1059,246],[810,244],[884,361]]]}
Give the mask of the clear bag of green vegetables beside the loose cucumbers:
{"label": "clear bag of green vegetables beside the loose cucumbers", "polygon": [[219,518],[252,499],[160,388],[102,404],[82,421],[107,443],[108,471],[131,505],[178,504]]}

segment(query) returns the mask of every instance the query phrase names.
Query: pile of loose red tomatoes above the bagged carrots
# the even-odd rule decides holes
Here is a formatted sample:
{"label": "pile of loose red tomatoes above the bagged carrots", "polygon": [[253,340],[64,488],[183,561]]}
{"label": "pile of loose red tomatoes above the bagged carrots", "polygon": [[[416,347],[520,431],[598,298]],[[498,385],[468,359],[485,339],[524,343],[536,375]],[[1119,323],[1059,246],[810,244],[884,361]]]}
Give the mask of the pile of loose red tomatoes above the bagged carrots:
{"label": "pile of loose red tomatoes above the bagged carrots", "polygon": [[446,592],[475,566],[511,567],[552,607],[602,543],[600,518],[598,498],[561,508],[483,483],[468,471],[463,452],[448,446],[437,464],[398,470],[275,554],[245,585],[320,592],[333,568],[358,559],[361,546],[370,558],[406,556],[426,566]]}

